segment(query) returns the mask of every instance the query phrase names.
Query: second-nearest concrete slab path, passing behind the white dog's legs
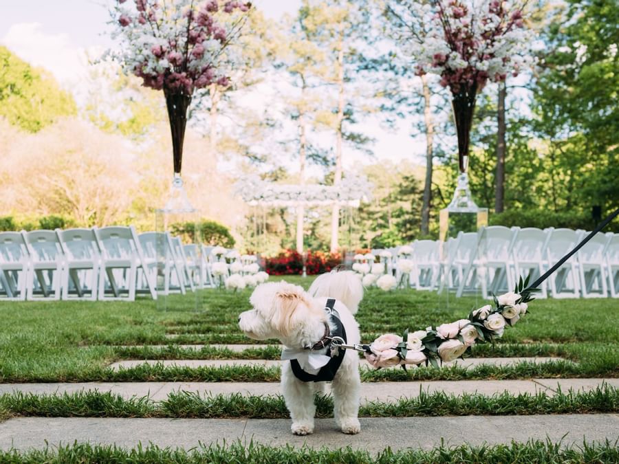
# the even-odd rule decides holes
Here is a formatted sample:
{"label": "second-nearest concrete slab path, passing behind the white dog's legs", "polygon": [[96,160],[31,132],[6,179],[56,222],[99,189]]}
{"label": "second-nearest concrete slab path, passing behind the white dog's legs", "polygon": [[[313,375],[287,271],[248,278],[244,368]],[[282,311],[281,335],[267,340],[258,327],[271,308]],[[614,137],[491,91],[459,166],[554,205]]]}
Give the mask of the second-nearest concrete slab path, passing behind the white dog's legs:
{"label": "second-nearest concrete slab path, passing behind the white dog's legs", "polygon": [[[455,380],[439,382],[363,382],[361,397],[363,402],[391,402],[401,397],[417,397],[420,391],[433,393],[444,392],[451,395],[479,393],[494,395],[508,391],[513,395],[519,393],[545,392],[554,395],[558,388],[565,393],[570,389],[577,391],[594,390],[602,384],[619,388],[619,379],[532,379],[532,380]],[[3,393],[33,393],[36,395],[62,395],[79,391],[98,390],[111,392],[124,398],[149,396],[153,401],[162,401],[172,392],[188,391],[201,395],[241,393],[241,395],[278,395],[279,384],[268,382],[85,382],[64,384],[0,384]],[[325,393],[329,393],[326,386]]]}

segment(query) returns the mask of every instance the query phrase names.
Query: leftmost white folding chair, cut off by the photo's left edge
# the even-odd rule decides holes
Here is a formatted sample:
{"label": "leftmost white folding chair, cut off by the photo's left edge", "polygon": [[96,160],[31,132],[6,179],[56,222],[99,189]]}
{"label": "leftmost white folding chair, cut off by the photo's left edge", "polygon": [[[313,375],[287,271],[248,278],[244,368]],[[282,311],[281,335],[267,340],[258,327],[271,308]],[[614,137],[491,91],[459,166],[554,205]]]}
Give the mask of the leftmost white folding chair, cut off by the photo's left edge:
{"label": "leftmost white folding chair, cut off by the photo's left edge", "polygon": [[25,300],[29,261],[21,232],[0,232],[0,287],[8,300]]}

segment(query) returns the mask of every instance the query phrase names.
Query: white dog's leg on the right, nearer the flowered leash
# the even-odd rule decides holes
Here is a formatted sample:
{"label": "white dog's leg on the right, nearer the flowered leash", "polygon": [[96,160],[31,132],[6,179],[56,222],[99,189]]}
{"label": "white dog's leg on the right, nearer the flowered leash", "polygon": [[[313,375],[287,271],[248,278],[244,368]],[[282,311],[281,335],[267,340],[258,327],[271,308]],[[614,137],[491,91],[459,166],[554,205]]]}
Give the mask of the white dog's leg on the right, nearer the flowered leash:
{"label": "white dog's leg on the right, nearer the flowered leash", "polygon": [[361,379],[357,353],[347,353],[332,384],[334,417],[336,423],[347,434],[358,434],[359,403],[361,397]]}

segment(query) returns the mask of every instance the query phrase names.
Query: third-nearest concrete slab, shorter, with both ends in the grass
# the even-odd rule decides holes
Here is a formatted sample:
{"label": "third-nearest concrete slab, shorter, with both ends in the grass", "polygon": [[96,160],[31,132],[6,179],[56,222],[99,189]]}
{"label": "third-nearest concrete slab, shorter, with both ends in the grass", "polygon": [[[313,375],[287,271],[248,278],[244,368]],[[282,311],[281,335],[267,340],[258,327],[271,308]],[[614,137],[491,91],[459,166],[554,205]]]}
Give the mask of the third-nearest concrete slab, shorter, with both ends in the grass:
{"label": "third-nearest concrete slab, shorter, with both ends in the grass", "polygon": [[[469,357],[465,360],[455,360],[453,362],[444,362],[443,366],[461,366],[464,368],[475,367],[479,365],[492,366],[512,366],[520,362],[533,362],[541,364],[550,361],[563,361],[561,357]],[[163,364],[165,367],[183,366],[183,367],[226,367],[226,366],[279,366],[279,360],[126,360],[118,361],[110,364],[114,370],[118,368],[132,368],[141,366],[142,364]],[[360,366],[371,368],[366,360],[360,360]]]}

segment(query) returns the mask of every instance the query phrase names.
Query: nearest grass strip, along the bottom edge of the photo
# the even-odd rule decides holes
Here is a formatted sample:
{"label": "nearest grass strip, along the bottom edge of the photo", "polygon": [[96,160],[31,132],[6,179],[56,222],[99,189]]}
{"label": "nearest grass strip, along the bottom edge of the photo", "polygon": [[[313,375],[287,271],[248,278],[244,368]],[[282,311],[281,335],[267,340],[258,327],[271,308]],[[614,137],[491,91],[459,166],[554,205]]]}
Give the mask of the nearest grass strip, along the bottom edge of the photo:
{"label": "nearest grass strip, along the bottom edge of the photo", "polygon": [[124,450],[109,445],[85,443],[65,445],[20,453],[15,450],[0,452],[0,461],[7,464],[56,464],[56,463],[347,463],[347,464],[408,464],[408,463],[613,463],[619,461],[617,443],[586,443],[565,446],[550,441],[528,441],[510,445],[442,445],[432,450],[390,449],[371,455],[367,451],[350,447],[339,450],[321,448],[271,447],[257,443],[243,445],[233,442],[228,445],[202,446],[193,450],[158,448],[154,445],[133,450]]}

